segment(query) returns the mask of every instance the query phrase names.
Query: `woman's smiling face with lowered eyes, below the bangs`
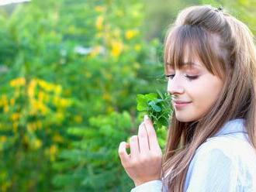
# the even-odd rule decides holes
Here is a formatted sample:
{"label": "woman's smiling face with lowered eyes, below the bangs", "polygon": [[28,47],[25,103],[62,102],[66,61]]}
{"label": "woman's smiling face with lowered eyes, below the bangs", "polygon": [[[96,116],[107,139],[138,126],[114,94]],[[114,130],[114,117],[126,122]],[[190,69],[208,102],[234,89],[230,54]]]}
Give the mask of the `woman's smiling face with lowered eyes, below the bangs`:
{"label": "woman's smiling face with lowered eyes, below the bangs", "polygon": [[[168,92],[172,94],[175,116],[180,122],[192,122],[206,115],[223,87],[220,77],[210,74],[196,58],[192,67],[167,66]],[[180,102],[186,102],[185,104]]]}

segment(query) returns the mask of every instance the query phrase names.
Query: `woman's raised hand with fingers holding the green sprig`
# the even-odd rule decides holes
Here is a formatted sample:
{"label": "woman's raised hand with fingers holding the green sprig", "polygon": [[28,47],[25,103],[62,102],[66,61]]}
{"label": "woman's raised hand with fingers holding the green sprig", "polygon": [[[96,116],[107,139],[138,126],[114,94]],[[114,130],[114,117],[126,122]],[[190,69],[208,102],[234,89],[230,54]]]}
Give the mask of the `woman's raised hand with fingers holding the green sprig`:
{"label": "woman's raised hand with fingers holding the green sprig", "polygon": [[[126,148],[129,147],[130,154],[127,154]],[[135,186],[150,180],[161,180],[162,152],[153,123],[147,115],[139,126],[138,135],[133,135],[130,143],[120,142],[119,157]]]}

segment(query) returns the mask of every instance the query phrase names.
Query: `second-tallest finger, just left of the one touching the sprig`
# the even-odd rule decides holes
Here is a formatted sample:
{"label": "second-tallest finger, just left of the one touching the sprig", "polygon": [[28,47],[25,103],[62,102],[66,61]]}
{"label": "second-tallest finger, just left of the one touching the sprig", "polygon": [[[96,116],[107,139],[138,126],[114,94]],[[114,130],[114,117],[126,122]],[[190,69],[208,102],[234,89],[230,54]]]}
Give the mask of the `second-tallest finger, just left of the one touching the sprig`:
{"label": "second-tallest finger, just left of the one touching the sprig", "polygon": [[149,151],[149,142],[147,138],[147,130],[144,125],[144,122],[142,122],[139,126],[139,145],[140,145],[140,153],[147,153]]}

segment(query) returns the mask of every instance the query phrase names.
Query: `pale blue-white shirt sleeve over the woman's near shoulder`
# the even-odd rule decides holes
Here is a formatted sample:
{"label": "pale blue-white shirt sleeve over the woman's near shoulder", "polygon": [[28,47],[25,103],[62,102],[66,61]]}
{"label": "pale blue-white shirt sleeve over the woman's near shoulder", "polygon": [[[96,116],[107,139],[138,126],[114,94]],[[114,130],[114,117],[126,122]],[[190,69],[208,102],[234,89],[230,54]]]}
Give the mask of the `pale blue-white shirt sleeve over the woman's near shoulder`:
{"label": "pale blue-white shirt sleeve over the woman's near shoulder", "polygon": [[255,162],[255,149],[243,139],[227,135],[208,139],[196,149],[189,163],[185,187],[197,189],[202,183],[203,190],[208,191],[221,183],[234,186],[236,190],[232,191],[256,191]]}

